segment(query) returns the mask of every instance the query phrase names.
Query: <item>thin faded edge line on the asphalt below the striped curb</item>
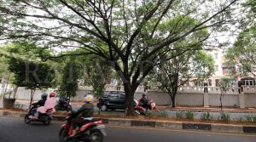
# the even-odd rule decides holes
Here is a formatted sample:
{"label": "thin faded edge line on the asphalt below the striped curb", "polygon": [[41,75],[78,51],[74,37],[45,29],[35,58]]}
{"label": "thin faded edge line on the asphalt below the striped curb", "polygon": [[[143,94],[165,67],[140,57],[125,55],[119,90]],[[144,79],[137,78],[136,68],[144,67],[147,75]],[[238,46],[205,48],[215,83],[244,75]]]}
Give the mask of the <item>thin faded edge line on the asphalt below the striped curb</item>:
{"label": "thin faded edge line on the asphalt below the striped curb", "polygon": [[[218,133],[212,131],[201,131],[201,130],[175,130],[175,129],[164,129],[164,128],[139,128],[139,127],[125,127],[125,126],[111,126],[106,125],[108,128],[135,128],[135,129],[146,129],[146,130],[159,130],[159,131],[169,131],[169,132],[178,132],[178,133],[207,133],[207,134],[218,134],[218,135],[230,135],[230,136],[245,136],[245,137],[256,137],[256,134],[246,134],[246,133]],[[210,136],[210,135],[209,135]]]}

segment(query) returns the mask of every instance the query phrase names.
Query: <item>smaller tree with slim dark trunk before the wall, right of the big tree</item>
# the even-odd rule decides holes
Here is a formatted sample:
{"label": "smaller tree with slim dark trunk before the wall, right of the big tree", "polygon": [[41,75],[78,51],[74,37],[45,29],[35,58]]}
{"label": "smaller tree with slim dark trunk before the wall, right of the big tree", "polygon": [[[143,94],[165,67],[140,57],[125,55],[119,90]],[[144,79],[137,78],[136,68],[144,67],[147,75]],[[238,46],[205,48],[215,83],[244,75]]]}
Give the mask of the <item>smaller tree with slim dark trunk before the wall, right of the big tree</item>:
{"label": "smaller tree with slim dark trunk before the wall, right of the big tree", "polygon": [[161,64],[154,77],[160,82],[160,89],[166,91],[176,106],[177,89],[191,79],[204,81],[214,72],[212,55],[203,51],[188,52]]}

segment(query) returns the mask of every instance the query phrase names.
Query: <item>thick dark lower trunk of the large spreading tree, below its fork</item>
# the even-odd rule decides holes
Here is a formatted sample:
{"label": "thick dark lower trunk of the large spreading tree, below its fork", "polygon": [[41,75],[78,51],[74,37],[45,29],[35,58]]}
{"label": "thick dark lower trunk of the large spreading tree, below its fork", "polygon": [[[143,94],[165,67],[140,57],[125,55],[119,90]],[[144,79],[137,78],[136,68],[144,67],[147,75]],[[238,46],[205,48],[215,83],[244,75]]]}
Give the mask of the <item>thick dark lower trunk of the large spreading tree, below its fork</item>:
{"label": "thick dark lower trunk of the large spreading tree, below its fork", "polygon": [[134,94],[137,88],[131,88],[131,85],[129,83],[124,84],[125,87],[125,116],[135,116],[135,111],[134,111],[134,104],[133,104],[133,99],[134,99]]}

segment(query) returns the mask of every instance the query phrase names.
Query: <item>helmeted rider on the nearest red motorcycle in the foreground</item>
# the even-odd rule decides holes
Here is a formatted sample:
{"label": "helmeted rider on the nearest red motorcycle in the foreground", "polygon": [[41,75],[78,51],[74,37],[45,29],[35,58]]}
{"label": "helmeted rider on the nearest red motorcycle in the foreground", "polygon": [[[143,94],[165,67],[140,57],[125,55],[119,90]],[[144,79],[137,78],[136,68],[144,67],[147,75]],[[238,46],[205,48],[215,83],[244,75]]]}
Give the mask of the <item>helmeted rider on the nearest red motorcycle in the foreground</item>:
{"label": "helmeted rider on the nearest red motorcycle in the foreground", "polygon": [[73,133],[70,137],[76,134],[76,129],[86,122],[90,122],[93,116],[93,95],[84,95],[84,105],[79,109],[79,111],[74,112],[74,115],[78,116],[71,121],[71,127],[73,128]]}

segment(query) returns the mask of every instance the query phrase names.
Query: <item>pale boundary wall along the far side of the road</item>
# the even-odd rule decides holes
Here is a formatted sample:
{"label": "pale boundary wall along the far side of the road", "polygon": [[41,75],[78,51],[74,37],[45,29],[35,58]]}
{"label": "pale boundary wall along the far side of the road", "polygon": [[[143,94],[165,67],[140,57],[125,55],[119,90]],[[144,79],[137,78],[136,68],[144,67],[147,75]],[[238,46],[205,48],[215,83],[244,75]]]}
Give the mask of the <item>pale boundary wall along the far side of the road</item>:
{"label": "pale boundary wall along the far side of the road", "polygon": [[[72,101],[83,101],[84,94],[89,93],[91,88],[79,88],[77,96],[72,98]],[[106,92],[115,91],[114,88],[108,88]],[[246,88],[244,92],[238,94],[235,89],[230,89],[229,92],[223,96],[223,106],[230,107],[256,107],[256,89]],[[55,91],[54,89],[48,89],[46,93]],[[34,101],[40,99],[42,91],[37,90],[35,92]],[[137,91],[135,99],[140,99],[142,94],[147,94],[149,99],[153,99],[156,105],[171,105],[171,97],[164,92],[156,90],[148,90],[147,93],[143,93],[143,88]],[[180,106],[220,106],[220,91],[218,88],[208,89],[207,95],[203,93],[201,87],[184,87],[180,88],[177,92],[176,105]],[[16,99],[30,99],[30,90],[25,88],[19,88]]]}

